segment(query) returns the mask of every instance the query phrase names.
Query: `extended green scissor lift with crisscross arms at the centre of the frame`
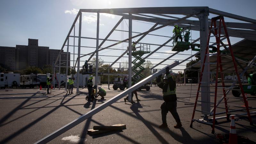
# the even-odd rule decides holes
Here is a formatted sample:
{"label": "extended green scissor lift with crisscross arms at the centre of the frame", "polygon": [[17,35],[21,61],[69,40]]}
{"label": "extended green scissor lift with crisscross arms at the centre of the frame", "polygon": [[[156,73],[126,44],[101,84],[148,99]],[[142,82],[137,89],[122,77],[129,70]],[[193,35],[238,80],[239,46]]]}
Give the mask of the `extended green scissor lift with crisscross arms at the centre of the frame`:
{"label": "extended green scissor lift with crisscross arms at the centre of the frame", "polygon": [[[133,64],[132,71],[135,73],[132,76],[132,81],[134,81],[135,83],[138,83],[140,80],[145,78],[145,76],[141,73],[143,72],[143,70],[145,70],[145,68],[141,66],[145,62],[145,60],[143,60],[141,57],[147,53],[150,53],[150,45],[147,45],[147,44],[145,45],[140,44],[140,46],[136,47],[136,51],[132,51],[132,56],[135,58],[134,60],[132,60],[132,64]],[[127,51],[127,55],[129,55],[128,51]],[[149,91],[150,86],[143,85],[139,89],[140,90],[146,89],[147,91]]]}

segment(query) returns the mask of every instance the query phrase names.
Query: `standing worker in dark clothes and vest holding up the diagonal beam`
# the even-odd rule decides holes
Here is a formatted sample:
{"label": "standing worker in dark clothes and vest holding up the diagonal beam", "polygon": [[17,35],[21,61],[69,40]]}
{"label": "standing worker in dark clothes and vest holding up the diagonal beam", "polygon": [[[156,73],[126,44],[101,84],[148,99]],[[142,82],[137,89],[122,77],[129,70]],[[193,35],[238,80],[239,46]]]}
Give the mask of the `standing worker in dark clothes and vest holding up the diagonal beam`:
{"label": "standing worker in dark clothes and vest holding up the diagonal beam", "polygon": [[177,97],[176,97],[176,83],[172,79],[172,76],[169,72],[170,68],[166,68],[166,72],[164,75],[164,82],[161,82],[162,75],[158,76],[156,79],[157,86],[159,86],[161,89],[163,89],[163,99],[164,103],[161,105],[161,113],[162,113],[162,121],[163,124],[161,124],[160,128],[168,127],[166,123],[166,115],[168,111],[171,112],[172,116],[174,117],[175,121],[177,122],[176,125],[174,125],[174,128],[180,128],[182,126],[180,122],[179,114],[177,113]]}

